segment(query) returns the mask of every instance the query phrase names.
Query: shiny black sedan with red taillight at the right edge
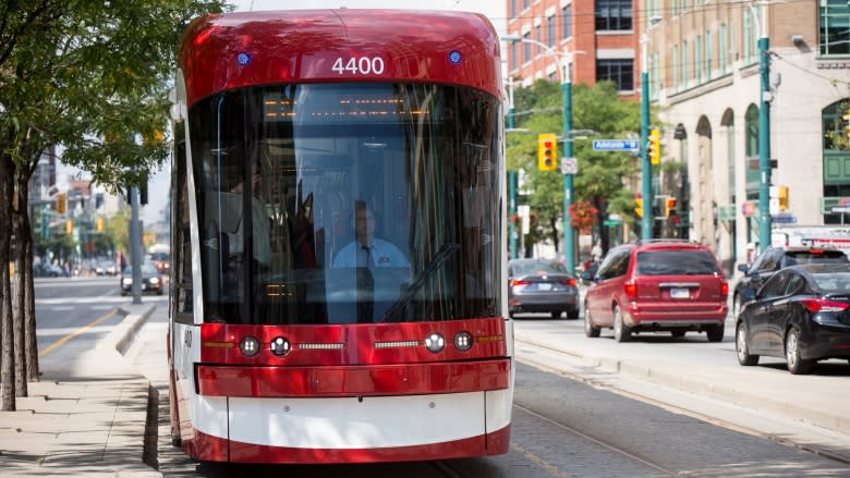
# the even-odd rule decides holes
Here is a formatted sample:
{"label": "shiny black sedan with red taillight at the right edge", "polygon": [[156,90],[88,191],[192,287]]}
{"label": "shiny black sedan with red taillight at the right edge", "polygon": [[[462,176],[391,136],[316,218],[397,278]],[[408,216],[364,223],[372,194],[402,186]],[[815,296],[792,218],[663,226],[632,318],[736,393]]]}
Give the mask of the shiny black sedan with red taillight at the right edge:
{"label": "shiny black sedan with red taillight at the right edge", "polygon": [[850,360],[850,263],[792,266],[753,293],[736,318],[738,363],[785,357],[791,373],[826,358]]}

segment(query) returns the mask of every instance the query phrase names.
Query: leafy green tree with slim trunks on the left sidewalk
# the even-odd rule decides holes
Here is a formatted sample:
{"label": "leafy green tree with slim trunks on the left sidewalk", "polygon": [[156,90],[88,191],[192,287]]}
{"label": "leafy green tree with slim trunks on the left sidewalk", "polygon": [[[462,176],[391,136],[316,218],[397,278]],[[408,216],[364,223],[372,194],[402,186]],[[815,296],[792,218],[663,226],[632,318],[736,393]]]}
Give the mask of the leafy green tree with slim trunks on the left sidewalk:
{"label": "leafy green tree with slim trunks on the left sidewalk", "polygon": [[[64,148],[62,161],[88,171],[117,192],[138,185],[168,156],[167,90],[175,46],[187,22],[221,11],[220,0],[10,0],[0,5],[0,230],[12,231],[14,184],[24,184],[49,147]],[[23,183],[22,183],[23,182]],[[19,188],[19,212],[27,215]],[[15,240],[26,245],[28,220],[16,220]],[[32,248],[17,247],[16,304],[33,294]],[[28,259],[27,256],[28,255]],[[0,265],[10,258],[10,236],[0,234]],[[14,317],[10,278],[0,278],[2,381],[0,408],[14,409],[14,330],[32,320]],[[22,270],[23,269],[23,270]],[[24,308],[21,316],[29,314]],[[35,340],[27,356],[37,356]],[[36,367],[37,369],[37,367]],[[24,371],[37,380],[33,369]]]}

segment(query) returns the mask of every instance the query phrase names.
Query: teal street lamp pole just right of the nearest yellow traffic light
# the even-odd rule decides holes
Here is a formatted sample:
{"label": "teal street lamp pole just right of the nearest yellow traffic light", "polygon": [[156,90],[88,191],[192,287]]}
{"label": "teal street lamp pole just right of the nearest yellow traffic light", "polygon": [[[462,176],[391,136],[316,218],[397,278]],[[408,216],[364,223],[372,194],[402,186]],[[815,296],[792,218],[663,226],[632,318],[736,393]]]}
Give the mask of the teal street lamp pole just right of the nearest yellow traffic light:
{"label": "teal street lamp pole just right of the nearest yellow traffic light", "polygon": [[[558,70],[561,74],[561,91],[563,94],[563,160],[572,158],[572,81],[570,77],[570,65],[572,63],[572,52],[559,52],[548,45],[533,40],[531,38],[522,38],[519,35],[503,35],[501,37],[506,41],[523,41],[537,45],[546,50],[546,54],[551,56],[558,65]],[[561,171],[563,172],[563,260],[567,270],[571,273],[575,273],[575,243],[572,232],[572,225],[570,224],[570,206],[572,205],[572,171],[567,171],[566,166],[561,164]]]}

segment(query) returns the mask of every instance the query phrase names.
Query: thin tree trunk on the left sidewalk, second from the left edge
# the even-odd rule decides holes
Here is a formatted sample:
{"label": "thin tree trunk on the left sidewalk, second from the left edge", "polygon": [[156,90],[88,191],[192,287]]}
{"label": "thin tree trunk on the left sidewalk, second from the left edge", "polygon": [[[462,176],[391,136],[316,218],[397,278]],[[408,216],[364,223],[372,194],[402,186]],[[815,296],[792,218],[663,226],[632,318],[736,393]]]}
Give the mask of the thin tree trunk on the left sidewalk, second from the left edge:
{"label": "thin tree trunk on the left sidewalk, second from the left edge", "polygon": [[26,197],[26,181],[24,181],[24,189],[21,189],[21,176],[17,173],[17,191],[14,194],[17,195],[17,210],[12,211],[13,231],[15,235],[15,296],[13,298],[12,306],[12,335],[14,340],[14,357],[15,357],[15,396],[27,396],[26,390],[26,358],[24,357],[24,322],[26,314],[26,240],[29,236],[27,228],[29,226],[26,221],[26,203],[22,201],[22,197]]}

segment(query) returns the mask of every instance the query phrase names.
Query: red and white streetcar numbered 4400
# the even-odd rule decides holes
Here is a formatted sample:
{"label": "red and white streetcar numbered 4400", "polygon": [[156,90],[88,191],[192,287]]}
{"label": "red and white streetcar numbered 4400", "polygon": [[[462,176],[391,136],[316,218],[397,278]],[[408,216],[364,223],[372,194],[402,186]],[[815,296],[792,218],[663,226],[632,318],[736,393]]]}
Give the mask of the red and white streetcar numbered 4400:
{"label": "red and white streetcar numbered 4400", "polygon": [[210,15],[175,81],[172,441],[210,462],[506,453],[499,42],[482,15]]}

